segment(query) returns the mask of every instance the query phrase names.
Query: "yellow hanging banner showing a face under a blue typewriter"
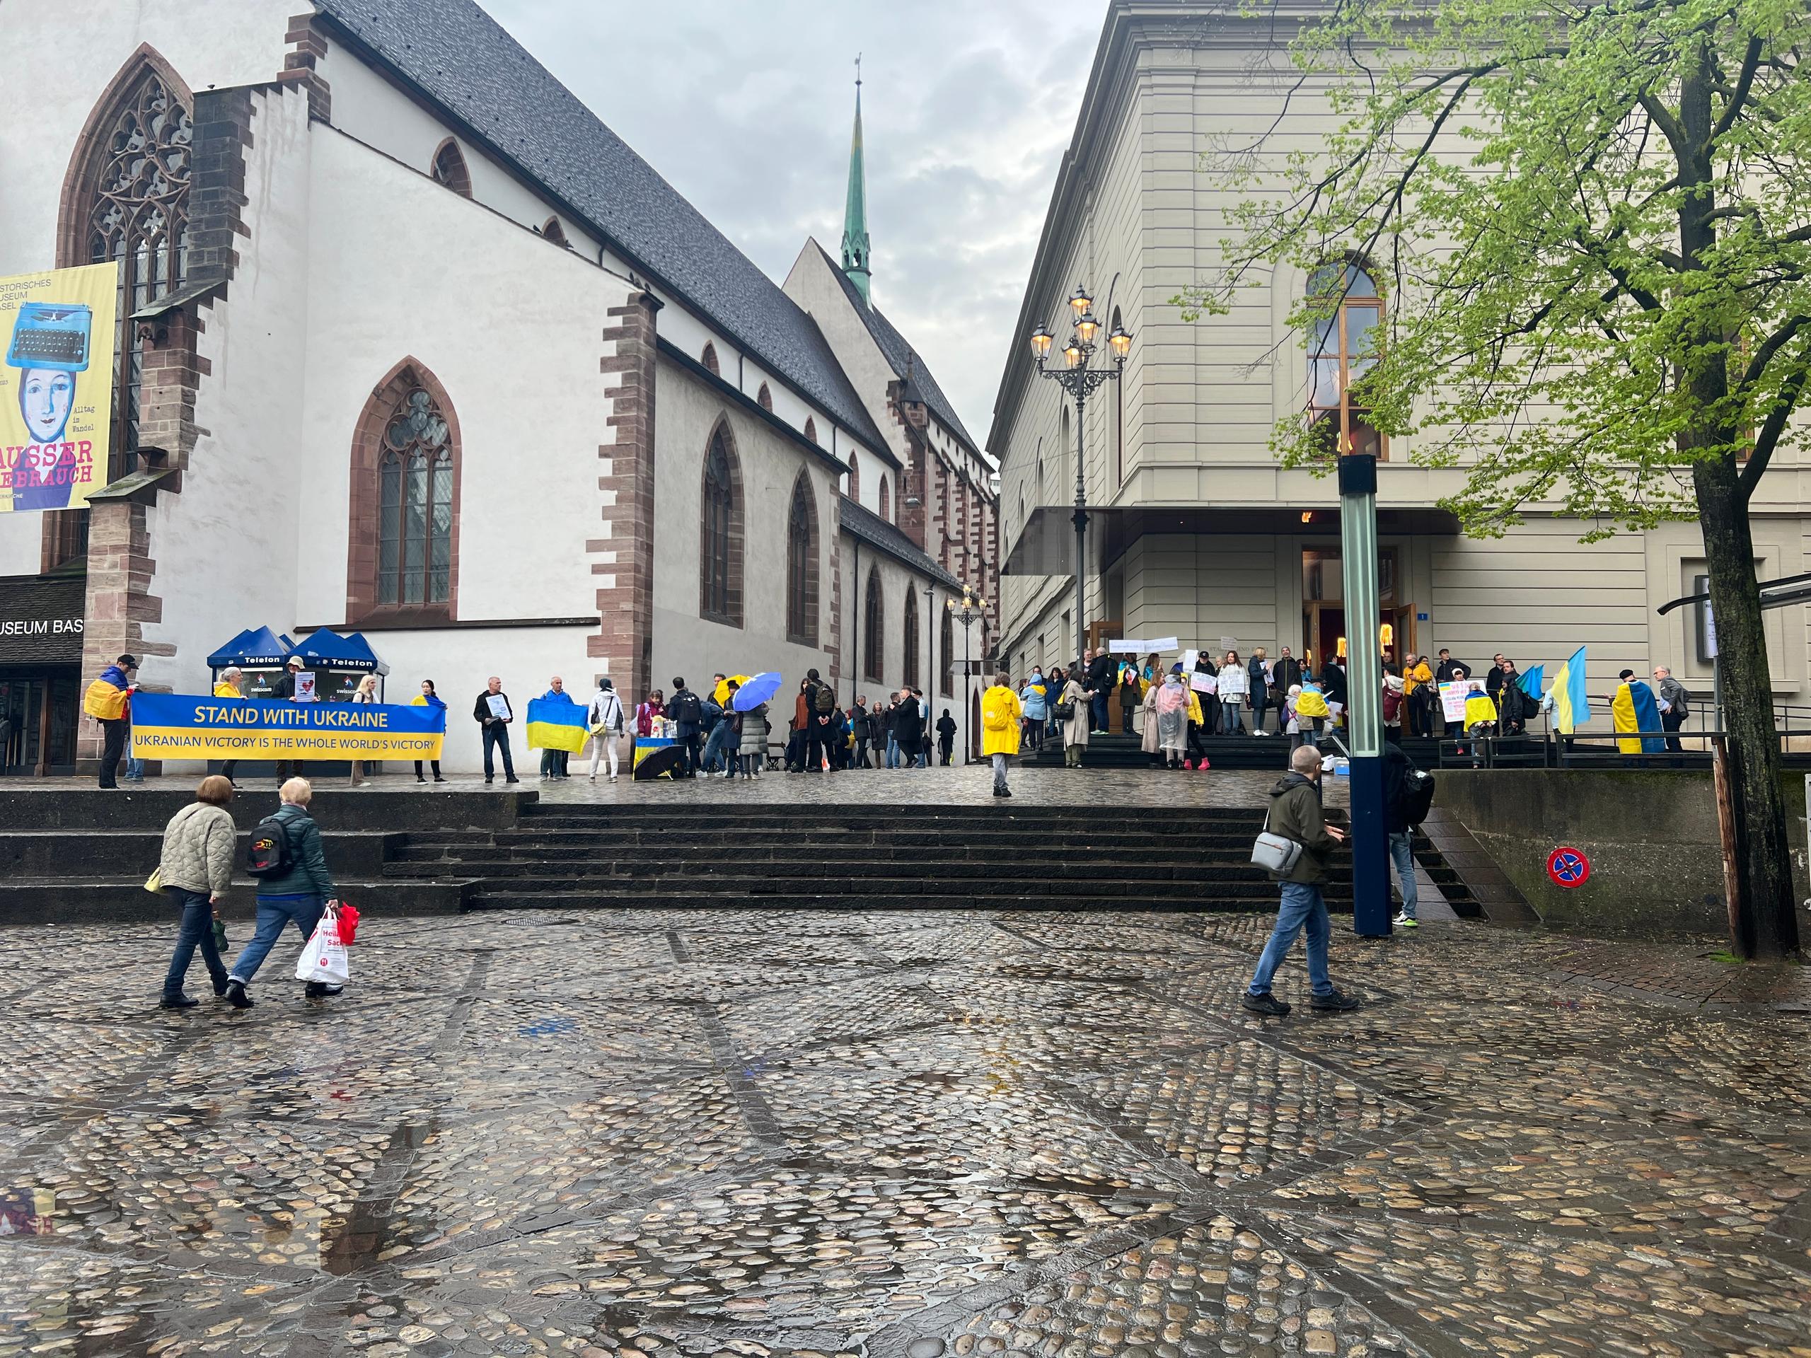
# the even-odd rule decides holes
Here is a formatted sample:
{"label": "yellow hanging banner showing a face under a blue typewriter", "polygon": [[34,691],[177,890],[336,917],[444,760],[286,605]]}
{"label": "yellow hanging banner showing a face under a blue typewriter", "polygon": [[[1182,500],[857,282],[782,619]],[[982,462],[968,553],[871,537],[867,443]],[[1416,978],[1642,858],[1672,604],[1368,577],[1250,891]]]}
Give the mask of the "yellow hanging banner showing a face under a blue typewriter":
{"label": "yellow hanging banner showing a face under a blue typewriter", "polygon": [[0,279],[0,512],[80,509],[107,483],[118,264]]}

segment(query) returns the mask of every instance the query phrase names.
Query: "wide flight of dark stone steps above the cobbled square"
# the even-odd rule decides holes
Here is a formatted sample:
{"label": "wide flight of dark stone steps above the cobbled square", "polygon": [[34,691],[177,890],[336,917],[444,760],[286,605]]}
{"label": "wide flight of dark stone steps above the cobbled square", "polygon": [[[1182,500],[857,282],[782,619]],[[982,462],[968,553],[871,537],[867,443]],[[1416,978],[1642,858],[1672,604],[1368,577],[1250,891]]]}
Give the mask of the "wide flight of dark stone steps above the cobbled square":
{"label": "wide flight of dark stone steps above the cobbled square", "polygon": [[[411,833],[391,882],[469,880],[467,909],[1268,911],[1262,815],[1164,808],[529,804],[489,835]],[[1340,815],[1340,813],[1335,813]],[[1478,904],[1433,849],[1454,911]],[[1351,884],[1327,904],[1351,911]]]}

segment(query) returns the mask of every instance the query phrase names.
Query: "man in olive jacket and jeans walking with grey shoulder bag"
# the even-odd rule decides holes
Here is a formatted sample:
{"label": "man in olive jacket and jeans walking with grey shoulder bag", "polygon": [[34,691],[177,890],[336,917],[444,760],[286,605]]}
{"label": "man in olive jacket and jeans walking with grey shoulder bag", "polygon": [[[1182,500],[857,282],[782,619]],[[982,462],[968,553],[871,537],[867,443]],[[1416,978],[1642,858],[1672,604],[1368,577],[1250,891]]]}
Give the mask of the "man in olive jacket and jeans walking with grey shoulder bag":
{"label": "man in olive jacket and jeans walking with grey shoulder bag", "polygon": [[1270,992],[1270,980],[1295,945],[1295,936],[1308,931],[1308,980],[1315,990],[1311,1009],[1349,1010],[1358,999],[1333,989],[1327,976],[1327,904],[1320,884],[1327,876],[1327,858],[1346,840],[1346,831],[1331,829],[1320,815],[1320,753],[1300,746],[1289,755],[1289,771],[1270,789],[1270,833],[1302,846],[1295,867],[1280,876],[1282,904],[1277,909],[1277,927],[1264,943],[1251,987],[1239,1003],[1255,1014],[1282,1018],[1289,1007]]}

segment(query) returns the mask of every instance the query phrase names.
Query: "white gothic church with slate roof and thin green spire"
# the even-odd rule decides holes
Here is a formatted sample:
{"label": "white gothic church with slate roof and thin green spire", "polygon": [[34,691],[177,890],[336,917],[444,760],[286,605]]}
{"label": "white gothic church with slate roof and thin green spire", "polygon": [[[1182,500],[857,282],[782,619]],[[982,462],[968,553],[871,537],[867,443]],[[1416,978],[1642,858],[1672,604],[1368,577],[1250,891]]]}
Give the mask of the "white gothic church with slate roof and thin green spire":
{"label": "white gothic church with slate roof and thin green spire", "polygon": [[0,85],[0,275],[123,299],[109,485],[0,516],[0,771],[94,753],[114,655],[206,692],[248,626],[433,679],[456,770],[491,674],[779,670],[777,741],[811,666],[962,693],[992,464],[869,299],[858,121],[782,288],[474,0],[7,0],[0,47],[80,53]]}

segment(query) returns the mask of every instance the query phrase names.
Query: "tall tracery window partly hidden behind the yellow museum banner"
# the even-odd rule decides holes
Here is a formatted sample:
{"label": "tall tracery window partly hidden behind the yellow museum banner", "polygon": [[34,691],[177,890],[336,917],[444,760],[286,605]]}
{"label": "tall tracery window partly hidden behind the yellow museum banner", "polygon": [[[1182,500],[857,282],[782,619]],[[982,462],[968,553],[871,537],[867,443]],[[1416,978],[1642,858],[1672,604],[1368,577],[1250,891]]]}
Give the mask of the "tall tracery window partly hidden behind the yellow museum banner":
{"label": "tall tracery window partly hidden behind the yellow museum banner", "polygon": [[188,107],[156,71],[114,103],[87,174],[85,257],[120,264],[120,344],[114,351],[114,429],[107,480],[134,467],[145,351],[127,317],[188,281]]}

